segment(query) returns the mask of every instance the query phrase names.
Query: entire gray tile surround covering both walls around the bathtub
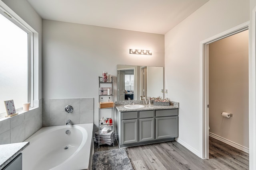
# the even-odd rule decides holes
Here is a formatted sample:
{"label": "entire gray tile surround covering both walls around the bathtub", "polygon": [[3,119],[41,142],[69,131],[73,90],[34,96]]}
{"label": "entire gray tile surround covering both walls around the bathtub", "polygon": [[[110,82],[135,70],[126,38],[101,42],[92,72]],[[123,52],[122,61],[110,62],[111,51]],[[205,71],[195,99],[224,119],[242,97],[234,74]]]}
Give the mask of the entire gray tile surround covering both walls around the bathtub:
{"label": "entire gray tile surround covering both walls around the bathtub", "polygon": [[[0,145],[23,142],[42,127],[65,125],[68,119],[73,124],[94,122],[94,98],[41,99],[36,102],[39,107],[0,120]],[[64,112],[66,105],[74,107],[72,114]]]}

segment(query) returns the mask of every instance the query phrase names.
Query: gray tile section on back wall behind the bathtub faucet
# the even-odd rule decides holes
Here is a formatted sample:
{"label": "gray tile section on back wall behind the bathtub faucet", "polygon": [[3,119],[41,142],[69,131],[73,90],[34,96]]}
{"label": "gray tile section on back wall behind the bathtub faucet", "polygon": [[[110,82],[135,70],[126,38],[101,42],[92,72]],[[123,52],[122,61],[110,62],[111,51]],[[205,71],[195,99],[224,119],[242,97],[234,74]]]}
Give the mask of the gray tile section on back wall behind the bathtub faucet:
{"label": "gray tile section on back wall behind the bathtub faucet", "polygon": [[[72,113],[66,113],[66,106],[73,106]],[[43,99],[43,127],[94,123],[94,98]]]}

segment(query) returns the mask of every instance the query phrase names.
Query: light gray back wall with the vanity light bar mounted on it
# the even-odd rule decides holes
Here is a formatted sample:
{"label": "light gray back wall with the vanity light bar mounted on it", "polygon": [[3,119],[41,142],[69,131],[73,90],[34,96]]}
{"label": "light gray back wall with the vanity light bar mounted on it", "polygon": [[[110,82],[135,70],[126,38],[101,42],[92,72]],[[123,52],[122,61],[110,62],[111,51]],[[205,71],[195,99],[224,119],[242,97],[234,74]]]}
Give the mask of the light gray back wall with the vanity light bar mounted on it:
{"label": "light gray back wall with the vanity light bar mounted on it", "polygon": [[[95,124],[102,71],[116,88],[117,64],[164,66],[164,35],[51,20],[43,20],[43,35],[43,98],[94,98]],[[153,55],[130,55],[133,48]]]}

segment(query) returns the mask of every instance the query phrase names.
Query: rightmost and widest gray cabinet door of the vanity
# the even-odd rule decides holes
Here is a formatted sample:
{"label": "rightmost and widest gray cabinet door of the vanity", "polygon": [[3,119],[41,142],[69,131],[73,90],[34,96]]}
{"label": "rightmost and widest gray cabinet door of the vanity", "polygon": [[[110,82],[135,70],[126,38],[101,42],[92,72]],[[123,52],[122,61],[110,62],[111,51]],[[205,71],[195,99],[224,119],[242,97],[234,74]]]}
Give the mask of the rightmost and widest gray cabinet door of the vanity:
{"label": "rightmost and widest gray cabinet door of the vanity", "polygon": [[178,116],[156,117],[156,139],[178,137]]}

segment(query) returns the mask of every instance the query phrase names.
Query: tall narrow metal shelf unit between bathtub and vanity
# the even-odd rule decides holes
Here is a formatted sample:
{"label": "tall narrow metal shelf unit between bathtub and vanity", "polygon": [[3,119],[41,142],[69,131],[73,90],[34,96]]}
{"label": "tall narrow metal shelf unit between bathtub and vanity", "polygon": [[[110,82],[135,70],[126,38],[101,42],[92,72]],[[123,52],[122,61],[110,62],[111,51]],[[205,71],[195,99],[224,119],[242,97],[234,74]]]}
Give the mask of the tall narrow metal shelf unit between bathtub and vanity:
{"label": "tall narrow metal shelf unit between bathtub and vanity", "polygon": [[[99,130],[98,130],[98,148],[100,148],[100,145],[103,145],[105,143],[100,142],[100,130],[104,127],[110,127],[110,130],[113,131],[113,147],[114,147],[114,141],[115,141],[115,131],[114,131],[114,79],[111,77],[110,82],[103,82],[102,77],[99,76],[99,102],[98,102],[98,108],[99,108]],[[110,94],[108,94],[108,88],[111,88]],[[103,99],[104,98],[104,99]],[[102,101],[103,99],[103,101]],[[109,101],[110,99],[110,101]],[[102,118],[102,110],[109,109],[111,110],[111,118],[112,123],[106,124],[100,123],[100,119]]]}

